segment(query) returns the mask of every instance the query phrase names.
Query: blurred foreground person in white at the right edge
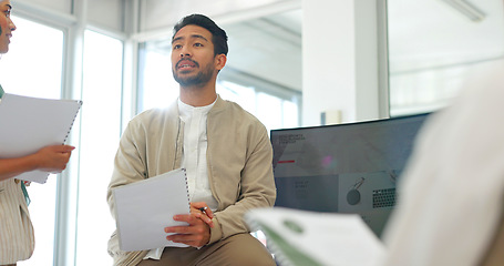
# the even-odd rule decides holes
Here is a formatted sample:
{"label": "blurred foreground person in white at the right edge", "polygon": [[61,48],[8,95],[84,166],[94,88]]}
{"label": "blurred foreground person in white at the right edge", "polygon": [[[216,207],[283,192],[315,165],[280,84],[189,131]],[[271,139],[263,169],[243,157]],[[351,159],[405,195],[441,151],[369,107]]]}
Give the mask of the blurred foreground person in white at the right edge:
{"label": "blurred foreground person in white at the right edge", "polygon": [[477,72],[419,133],[382,265],[504,265],[504,62]]}

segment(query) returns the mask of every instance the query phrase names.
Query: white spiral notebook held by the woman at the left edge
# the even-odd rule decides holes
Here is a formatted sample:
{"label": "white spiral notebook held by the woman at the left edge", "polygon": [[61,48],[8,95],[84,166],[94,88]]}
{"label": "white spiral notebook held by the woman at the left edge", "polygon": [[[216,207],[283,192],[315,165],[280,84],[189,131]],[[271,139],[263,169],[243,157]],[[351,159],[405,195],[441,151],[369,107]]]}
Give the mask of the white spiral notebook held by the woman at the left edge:
{"label": "white spiral notebook held by the woman at the left edge", "polygon": [[[82,102],[6,93],[0,102],[0,157],[32,154],[48,145],[61,145]],[[16,178],[45,183],[49,173],[32,171]]]}

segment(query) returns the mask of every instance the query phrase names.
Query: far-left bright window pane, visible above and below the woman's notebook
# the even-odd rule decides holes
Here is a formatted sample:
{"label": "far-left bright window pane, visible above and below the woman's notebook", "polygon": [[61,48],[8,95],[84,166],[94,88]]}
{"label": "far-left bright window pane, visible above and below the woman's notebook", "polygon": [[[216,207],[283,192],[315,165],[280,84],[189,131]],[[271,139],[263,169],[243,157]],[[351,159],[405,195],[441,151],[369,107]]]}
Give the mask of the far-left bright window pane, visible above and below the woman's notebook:
{"label": "far-left bright window pane, visible above and below the woman's notebook", "polygon": [[[63,32],[14,16],[12,20],[18,29],[12,33],[9,53],[0,60],[3,89],[13,94],[60,99]],[[33,256],[19,266],[52,265],[55,187],[55,175],[43,185],[33,183],[28,187],[37,245]]]}

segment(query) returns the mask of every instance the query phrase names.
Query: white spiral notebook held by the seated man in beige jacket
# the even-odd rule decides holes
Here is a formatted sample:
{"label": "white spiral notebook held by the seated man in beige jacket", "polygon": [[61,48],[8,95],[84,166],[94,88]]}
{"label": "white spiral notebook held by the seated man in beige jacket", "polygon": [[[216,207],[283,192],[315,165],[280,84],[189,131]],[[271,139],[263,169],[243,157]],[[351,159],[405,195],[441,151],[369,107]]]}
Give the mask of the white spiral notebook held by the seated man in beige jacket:
{"label": "white spiral notebook held by the seated man in beige jacket", "polygon": [[187,225],[173,219],[176,214],[191,212],[185,170],[174,170],[116,187],[113,195],[122,250],[187,247],[185,244],[167,241],[164,232],[167,226]]}

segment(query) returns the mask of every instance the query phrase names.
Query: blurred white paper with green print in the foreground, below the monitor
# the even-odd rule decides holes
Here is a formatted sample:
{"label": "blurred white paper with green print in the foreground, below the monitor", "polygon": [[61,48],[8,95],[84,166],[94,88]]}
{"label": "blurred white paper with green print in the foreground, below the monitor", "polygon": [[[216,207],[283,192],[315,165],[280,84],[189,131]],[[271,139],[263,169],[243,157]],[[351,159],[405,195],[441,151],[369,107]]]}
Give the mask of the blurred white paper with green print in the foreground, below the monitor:
{"label": "blurred white paper with green print in the foreground, below the monitor", "polygon": [[284,207],[253,209],[247,224],[261,229],[284,266],[379,265],[385,248],[357,214],[317,213]]}

